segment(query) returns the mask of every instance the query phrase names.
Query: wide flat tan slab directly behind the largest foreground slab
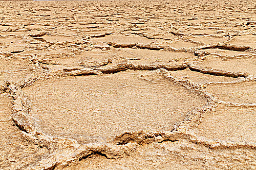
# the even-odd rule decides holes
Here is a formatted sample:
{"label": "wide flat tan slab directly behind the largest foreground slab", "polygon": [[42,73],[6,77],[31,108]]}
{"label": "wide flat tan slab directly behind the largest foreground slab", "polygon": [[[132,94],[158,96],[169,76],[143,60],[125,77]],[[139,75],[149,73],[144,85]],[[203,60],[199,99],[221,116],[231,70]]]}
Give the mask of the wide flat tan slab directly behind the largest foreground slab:
{"label": "wide flat tan slab directly behind the largest foreground slab", "polygon": [[[92,51],[84,51],[72,57],[56,58],[63,66],[72,67],[99,67],[105,65],[116,65],[122,63],[132,64],[170,64],[175,61],[184,61],[194,57],[188,52],[173,52],[173,51],[152,51],[148,49],[111,49],[102,51],[94,49]],[[102,64],[101,64],[102,63]]]}

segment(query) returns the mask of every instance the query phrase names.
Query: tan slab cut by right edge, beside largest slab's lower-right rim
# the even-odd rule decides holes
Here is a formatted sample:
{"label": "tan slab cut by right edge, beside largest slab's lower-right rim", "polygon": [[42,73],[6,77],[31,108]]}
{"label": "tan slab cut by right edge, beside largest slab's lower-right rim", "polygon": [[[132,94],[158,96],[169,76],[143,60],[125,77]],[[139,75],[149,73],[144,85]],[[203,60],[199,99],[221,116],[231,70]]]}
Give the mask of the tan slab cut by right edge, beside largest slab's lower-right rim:
{"label": "tan slab cut by right edge, beside largest slab's lower-right rim", "polygon": [[256,108],[219,106],[203,116],[194,129],[198,136],[213,140],[256,142]]}

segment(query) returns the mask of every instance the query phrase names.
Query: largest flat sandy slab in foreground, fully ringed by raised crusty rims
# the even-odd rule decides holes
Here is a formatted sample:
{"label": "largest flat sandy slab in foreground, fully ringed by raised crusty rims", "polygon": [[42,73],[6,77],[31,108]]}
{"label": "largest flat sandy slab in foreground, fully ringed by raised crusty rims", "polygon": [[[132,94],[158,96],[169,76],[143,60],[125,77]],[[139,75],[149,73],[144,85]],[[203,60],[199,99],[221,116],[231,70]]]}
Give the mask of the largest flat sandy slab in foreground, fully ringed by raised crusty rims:
{"label": "largest flat sandy slab in foreground, fully ringed by raised crusty rims", "polygon": [[83,143],[125,131],[171,131],[175,122],[206,102],[156,71],[55,78],[24,92],[44,133]]}

